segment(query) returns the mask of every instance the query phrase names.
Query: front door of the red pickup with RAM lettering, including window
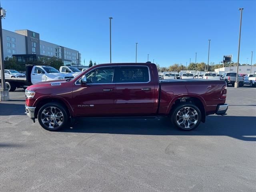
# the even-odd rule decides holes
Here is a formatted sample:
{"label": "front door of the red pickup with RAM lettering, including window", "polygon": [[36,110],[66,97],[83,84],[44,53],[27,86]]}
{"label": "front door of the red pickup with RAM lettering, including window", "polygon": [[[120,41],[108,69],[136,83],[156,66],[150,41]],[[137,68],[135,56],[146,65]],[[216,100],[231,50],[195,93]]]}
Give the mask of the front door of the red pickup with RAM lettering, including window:
{"label": "front door of the red pickup with RAM lettering, including window", "polygon": [[98,67],[86,74],[86,84],[78,80],[73,88],[71,106],[76,116],[114,114],[115,67]]}

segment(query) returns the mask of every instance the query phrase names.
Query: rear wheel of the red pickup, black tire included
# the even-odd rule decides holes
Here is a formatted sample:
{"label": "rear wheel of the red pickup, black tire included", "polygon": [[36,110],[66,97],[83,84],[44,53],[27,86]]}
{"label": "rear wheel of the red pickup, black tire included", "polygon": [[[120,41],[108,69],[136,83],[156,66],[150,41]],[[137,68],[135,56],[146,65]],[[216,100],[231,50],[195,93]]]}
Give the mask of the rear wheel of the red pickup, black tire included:
{"label": "rear wheel of the red pickup, black tire included", "polygon": [[[186,116],[185,114],[182,114],[182,112],[188,112],[188,113],[190,113],[190,116],[189,115]],[[180,114],[180,115],[178,115],[178,114]],[[196,120],[196,123],[194,123],[193,119],[191,118],[192,114],[194,114],[193,115],[195,117],[194,122]],[[183,118],[180,118],[181,116],[183,116]],[[184,116],[186,116],[186,117],[184,118]],[[194,105],[192,103],[181,103],[178,106],[176,106],[175,109],[172,111],[171,118],[172,118],[172,123],[177,128],[184,130],[184,131],[191,131],[191,130],[197,128],[198,125],[200,124],[202,114],[201,114],[200,109],[196,105]],[[180,122],[180,120],[182,120],[182,119],[183,119],[182,122],[184,122],[184,123],[179,124],[178,122]],[[188,123],[188,121],[190,121],[192,123],[191,126],[190,126],[190,123]]]}

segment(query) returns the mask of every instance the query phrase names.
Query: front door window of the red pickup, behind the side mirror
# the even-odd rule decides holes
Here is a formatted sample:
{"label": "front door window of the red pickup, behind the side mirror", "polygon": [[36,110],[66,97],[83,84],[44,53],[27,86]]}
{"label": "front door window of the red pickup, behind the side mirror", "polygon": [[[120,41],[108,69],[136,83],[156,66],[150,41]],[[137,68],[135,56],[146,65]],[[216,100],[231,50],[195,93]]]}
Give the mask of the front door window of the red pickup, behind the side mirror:
{"label": "front door window of the red pickup, behind the side mirror", "polygon": [[86,74],[87,84],[112,83],[114,76],[113,67],[96,68]]}

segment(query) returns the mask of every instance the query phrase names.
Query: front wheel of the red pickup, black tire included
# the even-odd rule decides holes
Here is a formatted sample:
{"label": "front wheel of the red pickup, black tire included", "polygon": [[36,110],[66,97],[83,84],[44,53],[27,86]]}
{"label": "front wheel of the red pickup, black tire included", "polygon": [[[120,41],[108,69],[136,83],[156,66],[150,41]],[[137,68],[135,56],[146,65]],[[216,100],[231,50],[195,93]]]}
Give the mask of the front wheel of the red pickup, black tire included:
{"label": "front wheel of the red pickup, black tire included", "polygon": [[[50,108],[50,110],[49,110],[49,108]],[[54,111],[55,111],[55,113],[54,113]],[[61,115],[63,115],[63,117],[56,118],[57,114],[59,114],[58,117]],[[51,118],[52,115],[56,115],[55,118],[53,117],[53,119],[52,119]],[[38,111],[38,122],[42,126],[42,128],[44,128],[48,131],[57,131],[62,128],[65,128],[68,125],[67,110],[62,104],[60,104],[58,102],[47,103],[47,104],[43,105],[40,108],[40,110]],[[50,123],[48,123],[48,122],[50,122]],[[62,123],[59,125],[60,122],[62,122]],[[57,124],[57,126],[55,126],[55,124]]]}

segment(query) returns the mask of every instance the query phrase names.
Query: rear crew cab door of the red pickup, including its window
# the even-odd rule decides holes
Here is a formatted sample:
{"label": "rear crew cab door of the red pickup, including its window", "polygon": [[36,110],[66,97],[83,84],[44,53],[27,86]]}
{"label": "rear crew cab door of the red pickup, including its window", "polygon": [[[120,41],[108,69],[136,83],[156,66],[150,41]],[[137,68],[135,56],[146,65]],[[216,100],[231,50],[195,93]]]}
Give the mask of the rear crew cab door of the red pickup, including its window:
{"label": "rear crew cab door of the red pickup, including its window", "polygon": [[154,114],[155,95],[154,81],[148,66],[119,66],[115,78],[116,114]]}

